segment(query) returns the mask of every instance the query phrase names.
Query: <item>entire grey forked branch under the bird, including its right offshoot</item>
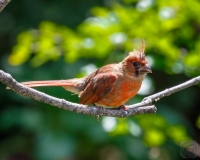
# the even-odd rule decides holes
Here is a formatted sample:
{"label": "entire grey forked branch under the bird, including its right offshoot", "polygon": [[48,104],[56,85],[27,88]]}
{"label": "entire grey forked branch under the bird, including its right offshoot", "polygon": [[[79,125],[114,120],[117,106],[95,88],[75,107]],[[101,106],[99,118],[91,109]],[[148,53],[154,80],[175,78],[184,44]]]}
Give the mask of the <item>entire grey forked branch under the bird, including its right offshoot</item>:
{"label": "entire grey forked branch under the bird, including its right offshoot", "polygon": [[81,114],[88,114],[92,116],[102,115],[102,116],[124,118],[124,117],[138,115],[138,114],[156,113],[157,109],[154,105],[152,105],[153,101],[157,101],[160,98],[169,96],[175,92],[191,87],[193,85],[197,85],[200,82],[200,76],[193,78],[180,85],[177,85],[175,87],[166,89],[162,92],[146,97],[140,103],[127,106],[129,108],[128,111],[116,110],[116,109],[101,109],[100,107],[94,107],[94,106],[88,107],[81,104],[71,103],[64,99],[55,98],[18,83],[15,79],[12,78],[10,74],[5,73],[2,70],[0,70],[0,81],[19,95],[30,97],[37,101],[47,103],[61,109],[65,109],[65,110],[69,110],[69,111],[73,111],[73,112],[81,113]]}

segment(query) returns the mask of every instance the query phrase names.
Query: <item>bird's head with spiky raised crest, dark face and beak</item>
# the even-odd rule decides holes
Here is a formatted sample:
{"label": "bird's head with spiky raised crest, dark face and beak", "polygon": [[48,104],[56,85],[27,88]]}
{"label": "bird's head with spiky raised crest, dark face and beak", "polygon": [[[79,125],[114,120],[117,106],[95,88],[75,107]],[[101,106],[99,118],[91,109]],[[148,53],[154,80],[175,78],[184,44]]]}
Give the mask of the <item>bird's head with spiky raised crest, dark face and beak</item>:
{"label": "bird's head with spiky raised crest, dark face and beak", "polygon": [[133,77],[144,77],[146,73],[152,73],[144,52],[145,44],[144,41],[142,41],[142,45],[139,50],[135,49],[130,52],[126,58],[124,58],[121,65],[125,74]]}

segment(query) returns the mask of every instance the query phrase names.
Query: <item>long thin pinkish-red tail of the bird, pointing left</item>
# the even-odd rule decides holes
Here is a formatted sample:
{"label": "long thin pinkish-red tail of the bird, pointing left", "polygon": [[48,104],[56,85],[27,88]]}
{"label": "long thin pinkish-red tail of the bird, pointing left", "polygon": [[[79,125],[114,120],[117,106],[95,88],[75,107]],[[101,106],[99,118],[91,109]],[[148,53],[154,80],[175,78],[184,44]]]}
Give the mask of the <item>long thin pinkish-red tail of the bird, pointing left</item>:
{"label": "long thin pinkish-red tail of the bird, pointing left", "polygon": [[82,78],[68,80],[30,81],[22,82],[21,84],[27,87],[61,86],[66,90],[76,94],[79,94],[84,88],[84,80]]}

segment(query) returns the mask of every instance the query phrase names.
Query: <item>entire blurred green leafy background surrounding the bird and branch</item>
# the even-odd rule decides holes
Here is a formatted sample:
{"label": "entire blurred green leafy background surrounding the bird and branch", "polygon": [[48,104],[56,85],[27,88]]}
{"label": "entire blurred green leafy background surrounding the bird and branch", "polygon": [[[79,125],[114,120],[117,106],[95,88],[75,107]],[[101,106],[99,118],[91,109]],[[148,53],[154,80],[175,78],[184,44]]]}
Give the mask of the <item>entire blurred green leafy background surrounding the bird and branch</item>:
{"label": "entire blurred green leafy background surrounding the bird and branch", "polygon": [[[0,14],[0,66],[18,81],[85,76],[142,38],[153,74],[128,104],[200,74],[199,0],[32,3]],[[199,86],[156,102],[155,115],[100,123],[0,87],[0,159],[181,159],[181,142],[200,143]],[[78,103],[62,88],[38,90]]]}

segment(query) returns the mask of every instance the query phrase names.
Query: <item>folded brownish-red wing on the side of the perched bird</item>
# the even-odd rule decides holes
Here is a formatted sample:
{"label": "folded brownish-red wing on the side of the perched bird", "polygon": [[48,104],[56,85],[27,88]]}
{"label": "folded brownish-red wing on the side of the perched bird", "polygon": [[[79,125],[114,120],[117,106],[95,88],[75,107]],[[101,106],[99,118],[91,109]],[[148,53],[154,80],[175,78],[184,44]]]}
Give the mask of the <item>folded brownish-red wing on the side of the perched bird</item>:
{"label": "folded brownish-red wing on the side of the perched bird", "polygon": [[112,90],[116,80],[117,76],[112,73],[97,74],[80,94],[80,103],[87,105],[97,102]]}

